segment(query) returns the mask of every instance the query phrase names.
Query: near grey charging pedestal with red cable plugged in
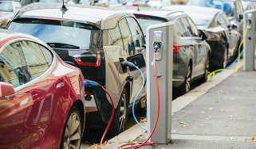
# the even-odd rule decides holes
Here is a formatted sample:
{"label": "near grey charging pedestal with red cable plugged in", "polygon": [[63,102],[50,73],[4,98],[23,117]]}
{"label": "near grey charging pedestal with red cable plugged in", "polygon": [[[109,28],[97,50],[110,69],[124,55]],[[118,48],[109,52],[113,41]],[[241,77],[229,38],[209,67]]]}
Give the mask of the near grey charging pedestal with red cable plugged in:
{"label": "near grey charging pedestal with red cable plugged in", "polygon": [[172,63],[174,27],[172,22],[151,25],[147,29],[147,119],[148,135],[157,114],[157,92],[153,67],[153,43],[161,43],[156,52],[156,69],[160,89],[160,117],[150,141],[168,143],[171,140]]}

